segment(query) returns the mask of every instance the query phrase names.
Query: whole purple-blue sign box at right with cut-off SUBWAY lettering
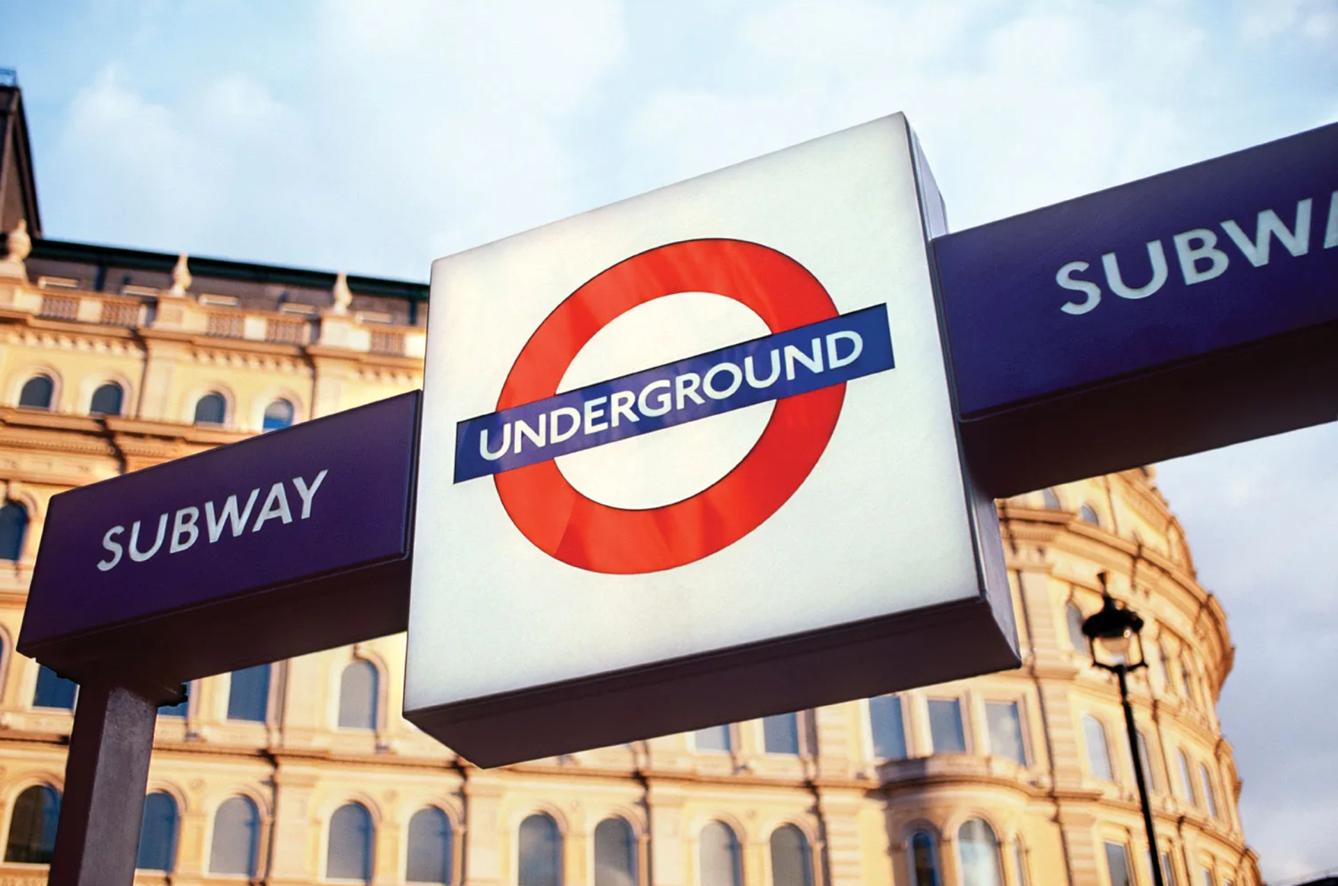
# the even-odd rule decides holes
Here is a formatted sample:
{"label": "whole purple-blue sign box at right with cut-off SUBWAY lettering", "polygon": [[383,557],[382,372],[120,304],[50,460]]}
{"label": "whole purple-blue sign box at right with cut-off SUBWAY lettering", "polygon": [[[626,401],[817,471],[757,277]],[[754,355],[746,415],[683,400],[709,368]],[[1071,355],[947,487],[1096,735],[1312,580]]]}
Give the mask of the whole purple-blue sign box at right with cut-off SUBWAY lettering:
{"label": "whole purple-blue sign box at right with cut-off SUBWAY lettering", "polygon": [[1004,497],[1338,418],[1338,124],[934,241]]}

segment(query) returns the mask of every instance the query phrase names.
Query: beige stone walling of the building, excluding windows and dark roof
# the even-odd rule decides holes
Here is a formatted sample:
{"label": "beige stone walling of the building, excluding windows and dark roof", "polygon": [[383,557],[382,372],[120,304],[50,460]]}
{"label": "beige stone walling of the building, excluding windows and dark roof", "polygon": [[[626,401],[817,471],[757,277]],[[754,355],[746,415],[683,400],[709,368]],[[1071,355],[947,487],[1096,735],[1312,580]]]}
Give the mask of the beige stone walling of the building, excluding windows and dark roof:
{"label": "beige stone walling of the building, excluding windows and dark roof", "polygon": [[[71,715],[32,708],[37,665],[13,653],[25,589],[51,495],[258,431],[265,406],[289,399],[306,419],[391,396],[421,384],[421,331],[376,353],[373,329],[328,312],[300,344],[266,341],[264,313],[231,325],[193,297],[151,298],[135,325],[103,324],[98,293],[74,297],[75,320],[43,317],[52,293],[27,281],[0,281],[0,483],[32,525],[15,562],[0,562],[0,834],[27,787],[62,787]],[[112,300],[126,301],[123,297]],[[122,319],[127,311],[116,315]],[[214,323],[214,327],[210,327]],[[241,331],[245,337],[207,335]],[[384,339],[383,339],[384,341]],[[56,380],[51,411],[16,408],[33,372]],[[124,418],[90,418],[92,389],[116,380],[127,391]],[[191,427],[195,400],[219,391],[229,400],[222,428]],[[455,882],[515,883],[516,832],[535,811],[563,835],[563,882],[593,886],[593,834],[606,816],[628,820],[638,839],[641,882],[698,886],[698,835],[728,824],[741,843],[744,886],[771,883],[769,838],[793,824],[812,847],[815,886],[915,885],[909,843],[934,835],[942,886],[965,883],[959,828],[973,818],[1001,843],[1002,886],[1111,886],[1105,842],[1127,845],[1137,886],[1151,886],[1145,838],[1133,788],[1128,741],[1113,677],[1072,648],[1066,606],[1100,605],[1098,571],[1112,593],[1147,618],[1147,671],[1131,679],[1139,728],[1148,737],[1161,850],[1177,886],[1258,886],[1254,854],[1236,814],[1239,779],[1214,704],[1231,669],[1232,646],[1218,601],[1196,581],[1184,535],[1149,471],[1072,483],[999,506],[1009,574],[1022,640],[1018,671],[903,693],[909,756],[874,758],[866,701],[805,712],[797,758],[769,755],[759,721],[735,724],[735,751],[698,752],[676,735],[559,759],[482,771],[417,732],[400,716],[404,638],[302,656],[274,668],[264,724],[226,717],[229,677],[198,680],[185,719],[162,717],[150,790],[181,810],[171,883],[235,883],[207,873],[214,814],[226,799],[250,798],[261,811],[261,879],[324,882],[333,811],[357,800],[372,814],[375,882],[400,883],[415,811],[443,810],[455,835]],[[1057,507],[1056,507],[1057,505]],[[1085,522],[1084,506],[1097,523]],[[467,630],[460,625],[460,630]],[[377,728],[337,727],[343,669],[372,662],[381,696]],[[871,662],[872,665],[874,662]],[[966,754],[933,754],[929,700],[957,699]],[[1026,763],[991,755],[986,704],[1016,701]],[[1089,766],[1084,717],[1096,717],[1109,744],[1113,779]],[[1180,783],[1184,752],[1196,780]],[[1199,766],[1208,774],[1218,815],[1207,811]],[[1020,873],[1014,859],[1024,862]],[[1025,881],[1022,879],[1025,878]],[[0,863],[0,885],[44,882],[44,867]],[[139,882],[169,882],[140,873]]]}

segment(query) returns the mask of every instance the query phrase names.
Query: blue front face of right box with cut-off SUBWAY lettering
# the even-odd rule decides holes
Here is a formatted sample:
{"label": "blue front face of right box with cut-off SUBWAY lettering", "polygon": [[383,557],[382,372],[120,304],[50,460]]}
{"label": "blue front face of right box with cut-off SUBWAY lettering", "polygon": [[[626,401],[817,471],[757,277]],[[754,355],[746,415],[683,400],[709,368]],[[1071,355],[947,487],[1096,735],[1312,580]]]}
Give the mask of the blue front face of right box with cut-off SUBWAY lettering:
{"label": "blue front face of right box with cut-off SUBWAY lettering", "polygon": [[963,418],[1334,323],[1338,124],[949,234],[934,253]]}

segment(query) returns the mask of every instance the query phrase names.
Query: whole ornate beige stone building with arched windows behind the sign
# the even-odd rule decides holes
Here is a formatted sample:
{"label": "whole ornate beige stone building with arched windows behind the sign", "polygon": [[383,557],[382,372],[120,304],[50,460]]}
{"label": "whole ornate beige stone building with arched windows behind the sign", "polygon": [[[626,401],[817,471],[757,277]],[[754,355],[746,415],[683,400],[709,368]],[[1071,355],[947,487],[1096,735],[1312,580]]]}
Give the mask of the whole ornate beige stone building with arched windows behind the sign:
{"label": "whole ornate beige stone building with arched windows behind the sign", "polygon": [[[25,885],[78,704],[13,650],[51,495],[419,387],[427,293],[43,240],[35,198],[7,205],[0,885]],[[1259,886],[1214,707],[1226,616],[1153,479],[999,502],[1022,667],[898,696],[479,770],[399,716],[403,636],[197,680],[159,716],[136,882],[1151,886],[1117,687],[1074,633],[1105,571],[1147,620],[1168,883]]]}

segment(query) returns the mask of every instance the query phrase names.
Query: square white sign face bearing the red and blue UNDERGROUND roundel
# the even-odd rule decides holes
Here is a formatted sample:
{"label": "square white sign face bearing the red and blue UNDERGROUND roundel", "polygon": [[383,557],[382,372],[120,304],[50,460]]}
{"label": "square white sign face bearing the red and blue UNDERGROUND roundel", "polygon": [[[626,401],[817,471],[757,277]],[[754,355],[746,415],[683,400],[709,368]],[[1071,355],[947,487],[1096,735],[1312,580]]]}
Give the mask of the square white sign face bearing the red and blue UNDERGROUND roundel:
{"label": "square white sign face bearing the red and blue UNDERGROUND roundel", "polygon": [[429,324],[409,711],[982,594],[900,115],[442,258]]}

